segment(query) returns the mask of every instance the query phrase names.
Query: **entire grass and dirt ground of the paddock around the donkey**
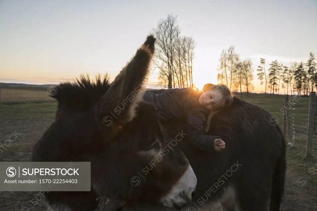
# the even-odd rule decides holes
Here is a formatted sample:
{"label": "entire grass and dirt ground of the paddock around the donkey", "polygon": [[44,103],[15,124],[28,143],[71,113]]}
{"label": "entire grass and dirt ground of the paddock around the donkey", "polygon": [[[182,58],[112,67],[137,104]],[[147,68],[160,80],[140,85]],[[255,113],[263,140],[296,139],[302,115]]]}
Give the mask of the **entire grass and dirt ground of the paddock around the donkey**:
{"label": "entire grass and dirt ground of the paddock around the donkey", "polygon": [[[33,144],[54,121],[57,102],[48,96],[46,90],[34,87],[2,88],[0,99],[0,144],[14,131],[21,134],[17,141],[6,147],[0,155],[0,162],[29,161]],[[252,95],[243,96],[243,100],[265,108],[279,119],[282,126],[284,96]],[[307,122],[308,102],[309,98],[303,97],[290,105],[290,118],[294,123]],[[288,150],[287,158],[286,188],[281,210],[317,210],[317,179],[310,170],[314,166],[295,150]],[[300,178],[306,179],[304,185]],[[0,192],[0,210],[22,210],[32,197],[32,192]],[[44,209],[45,204],[41,202],[36,208],[23,211]]]}

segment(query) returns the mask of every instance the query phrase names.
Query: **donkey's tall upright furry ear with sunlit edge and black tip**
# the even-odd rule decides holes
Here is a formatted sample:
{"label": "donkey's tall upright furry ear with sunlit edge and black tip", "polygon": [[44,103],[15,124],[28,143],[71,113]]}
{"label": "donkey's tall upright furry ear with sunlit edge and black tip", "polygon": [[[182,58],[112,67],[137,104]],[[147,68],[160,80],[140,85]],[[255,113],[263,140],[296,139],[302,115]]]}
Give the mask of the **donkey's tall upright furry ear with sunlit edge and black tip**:
{"label": "donkey's tall upright furry ear with sunlit edge and black tip", "polygon": [[153,35],[147,37],[95,107],[98,125],[106,125],[103,127],[105,130],[120,128],[135,116],[138,102],[146,90],[146,79],[155,51],[155,42]]}

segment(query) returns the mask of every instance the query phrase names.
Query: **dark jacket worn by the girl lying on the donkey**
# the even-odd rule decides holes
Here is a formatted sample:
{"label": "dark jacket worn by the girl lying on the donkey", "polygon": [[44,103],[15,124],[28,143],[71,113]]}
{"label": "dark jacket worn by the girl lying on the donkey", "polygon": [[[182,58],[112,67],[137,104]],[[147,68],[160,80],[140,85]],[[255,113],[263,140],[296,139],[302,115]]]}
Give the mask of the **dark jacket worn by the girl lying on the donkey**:
{"label": "dark jacket worn by the girl lying on the donkey", "polygon": [[200,95],[192,88],[160,89],[146,91],[143,99],[155,106],[162,121],[186,119],[190,143],[208,152],[215,149],[214,140],[220,137],[204,134],[209,111],[198,103]]}

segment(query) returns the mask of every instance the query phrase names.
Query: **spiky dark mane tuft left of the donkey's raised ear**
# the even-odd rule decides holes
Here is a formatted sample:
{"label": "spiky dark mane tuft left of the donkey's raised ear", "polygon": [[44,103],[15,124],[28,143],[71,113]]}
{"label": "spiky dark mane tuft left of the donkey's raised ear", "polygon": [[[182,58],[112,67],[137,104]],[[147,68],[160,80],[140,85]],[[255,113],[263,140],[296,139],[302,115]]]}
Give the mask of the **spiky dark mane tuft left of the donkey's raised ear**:
{"label": "spiky dark mane tuft left of the donkey's raised ear", "polygon": [[59,84],[55,95],[51,96],[58,100],[59,106],[74,110],[90,109],[110,87],[108,74],[101,77],[95,76],[94,80],[89,75],[80,75],[73,82],[63,82]]}

